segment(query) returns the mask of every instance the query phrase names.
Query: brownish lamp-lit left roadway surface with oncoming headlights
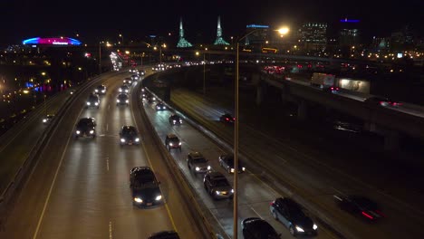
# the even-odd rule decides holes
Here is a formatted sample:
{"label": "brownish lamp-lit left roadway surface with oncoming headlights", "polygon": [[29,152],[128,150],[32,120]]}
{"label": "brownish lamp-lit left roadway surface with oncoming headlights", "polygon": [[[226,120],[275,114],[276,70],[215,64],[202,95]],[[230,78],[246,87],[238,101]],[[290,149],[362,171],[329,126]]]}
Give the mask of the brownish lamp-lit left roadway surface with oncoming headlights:
{"label": "brownish lamp-lit left roadway surface with oncoming headlights", "polygon": [[[202,237],[140,117],[138,96],[132,95],[130,107],[116,106],[125,76],[129,73],[103,77],[108,91],[99,110],[83,108],[94,86],[72,104],[27,176],[0,238],[147,238],[162,230],[176,230],[182,238]],[[73,138],[82,117],[96,119],[96,139]],[[118,133],[125,124],[138,127],[140,146],[120,147]],[[156,172],[165,205],[132,206],[129,173],[136,166]]]}

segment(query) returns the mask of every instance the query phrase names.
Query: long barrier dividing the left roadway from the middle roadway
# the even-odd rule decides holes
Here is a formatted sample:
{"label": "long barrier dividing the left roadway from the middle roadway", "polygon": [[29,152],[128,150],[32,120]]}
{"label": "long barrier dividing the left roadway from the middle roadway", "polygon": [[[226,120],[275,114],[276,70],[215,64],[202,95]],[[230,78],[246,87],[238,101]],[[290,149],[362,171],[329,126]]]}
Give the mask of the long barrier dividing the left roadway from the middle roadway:
{"label": "long barrier dividing the left roadway from the middle roadway", "polygon": [[[139,85],[139,88],[140,88],[140,85]],[[159,97],[155,93],[150,91],[149,88],[145,88],[145,89],[146,91],[149,91],[150,94],[154,95],[157,99],[159,99]],[[140,95],[140,89],[138,90],[138,94]],[[197,195],[196,189],[193,186],[191,186],[191,184],[188,182],[187,177],[185,177],[184,174],[182,173],[182,169],[178,166],[175,159],[172,158],[172,156],[169,154],[169,151],[167,148],[165,148],[165,145],[162,144],[162,140],[159,138],[159,135],[156,133],[154,126],[152,125],[148,116],[146,115],[146,111],[144,110],[142,99],[140,99],[140,97],[138,97],[138,99],[139,99],[138,103],[139,103],[140,111],[142,112],[143,117],[146,119],[146,121],[149,122],[148,128],[152,132],[155,132],[153,135],[155,136],[154,139],[155,139],[156,145],[158,145],[161,149],[159,150],[160,154],[167,161],[167,165],[171,169],[171,172],[174,172],[172,176],[175,177],[177,182],[182,182],[181,184],[177,184],[177,186],[179,187],[180,191],[186,192],[187,197],[184,197],[184,199],[186,200],[186,203],[194,207],[195,212],[192,212],[190,210],[191,215],[194,215],[197,218],[198,216],[200,216],[201,221],[203,222],[202,224],[198,223],[198,228],[201,228],[203,234],[207,236],[203,238],[229,239],[229,237],[223,236],[223,234],[225,233],[223,229],[221,228],[221,226],[218,224],[217,219],[207,209],[207,206],[203,203],[202,199]],[[166,102],[164,103],[166,104]],[[166,105],[167,107],[169,107],[168,104]],[[172,109],[172,108],[169,108],[169,109]],[[183,116],[183,119],[186,119],[186,118]],[[188,208],[188,209],[191,209],[191,208]],[[215,222],[215,223],[212,224],[212,222]]]}

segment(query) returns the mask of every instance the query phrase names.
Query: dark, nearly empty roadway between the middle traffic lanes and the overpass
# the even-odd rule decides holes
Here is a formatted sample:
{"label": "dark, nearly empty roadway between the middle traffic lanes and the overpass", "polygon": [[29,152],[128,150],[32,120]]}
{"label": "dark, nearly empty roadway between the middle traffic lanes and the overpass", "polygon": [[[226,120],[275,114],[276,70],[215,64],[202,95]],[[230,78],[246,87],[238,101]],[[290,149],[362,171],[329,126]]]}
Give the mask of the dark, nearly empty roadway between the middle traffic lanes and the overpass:
{"label": "dark, nearly empty roadway between the middle traffic lanes and the overpass", "polygon": [[[173,89],[171,102],[231,144],[232,127],[225,126],[218,119],[224,111],[232,111],[232,92],[222,89],[209,89],[207,99],[192,91]],[[214,95],[213,99],[211,95]],[[330,224],[347,238],[422,237],[420,227],[424,225],[424,210],[420,203],[422,195],[418,193],[419,182],[422,182],[419,169],[390,164],[382,166],[380,161],[372,158],[375,156],[372,151],[366,149],[351,148],[346,152],[343,151],[345,148],[331,147],[330,142],[323,140],[324,136],[319,137],[313,131],[311,134],[305,132],[302,124],[282,119],[278,110],[252,107],[254,100],[250,95],[241,96],[240,151],[249,161],[261,165],[262,170],[255,172],[257,175],[275,180],[271,187],[285,192],[282,195],[293,194],[311,206],[311,210],[316,210],[317,215],[327,216]],[[310,141],[304,142],[305,138]],[[315,147],[307,145],[311,142]],[[410,174],[404,177],[404,174],[397,173],[398,170],[408,170]],[[373,174],[377,171],[378,174]],[[342,212],[333,200],[333,195],[340,194],[370,196],[383,206],[387,218],[370,225]]]}

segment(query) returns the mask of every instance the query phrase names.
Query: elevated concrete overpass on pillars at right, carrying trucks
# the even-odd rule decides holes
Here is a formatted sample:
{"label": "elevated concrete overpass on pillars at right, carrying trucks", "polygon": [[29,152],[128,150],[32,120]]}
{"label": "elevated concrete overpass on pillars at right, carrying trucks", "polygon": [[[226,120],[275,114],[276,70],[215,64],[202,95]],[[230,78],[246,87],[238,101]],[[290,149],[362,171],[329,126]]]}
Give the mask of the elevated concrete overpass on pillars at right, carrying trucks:
{"label": "elevated concrete overpass on pillars at right, carrying trucks", "polygon": [[[337,110],[364,122],[364,129],[384,136],[384,148],[394,150],[399,147],[401,134],[424,139],[424,111],[404,110],[396,107],[383,107],[363,102],[363,98],[349,93],[329,93],[310,86],[302,81],[290,81],[275,75],[262,74],[256,87],[256,103],[263,101],[266,88],[281,90],[284,101],[298,105],[298,118],[306,119],[313,104],[318,103],[325,109]],[[423,114],[420,114],[423,112]]]}

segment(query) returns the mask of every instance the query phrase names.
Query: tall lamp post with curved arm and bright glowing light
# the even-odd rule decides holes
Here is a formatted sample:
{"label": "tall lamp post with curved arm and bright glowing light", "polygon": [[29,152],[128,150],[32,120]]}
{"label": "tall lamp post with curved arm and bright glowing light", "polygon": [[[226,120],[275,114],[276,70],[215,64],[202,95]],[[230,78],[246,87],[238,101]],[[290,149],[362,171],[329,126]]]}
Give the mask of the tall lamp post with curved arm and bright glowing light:
{"label": "tall lamp post with curved arm and bright glowing light", "polygon": [[[237,223],[237,209],[238,209],[238,58],[239,58],[239,53],[238,53],[238,47],[240,42],[245,39],[248,35],[255,33],[257,31],[260,31],[262,29],[255,29],[249,33],[246,33],[245,35],[243,35],[242,37],[236,39],[236,82],[235,82],[235,91],[234,91],[234,95],[235,95],[235,120],[234,120],[234,197],[233,197],[233,238],[237,239],[237,233],[238,233],[238,223]],[[285,33],[288,33],[288,28],[282,28],[277,30],[278,33],[281,34],[281,36],[283,37],[283,35]]]}

